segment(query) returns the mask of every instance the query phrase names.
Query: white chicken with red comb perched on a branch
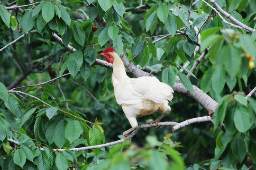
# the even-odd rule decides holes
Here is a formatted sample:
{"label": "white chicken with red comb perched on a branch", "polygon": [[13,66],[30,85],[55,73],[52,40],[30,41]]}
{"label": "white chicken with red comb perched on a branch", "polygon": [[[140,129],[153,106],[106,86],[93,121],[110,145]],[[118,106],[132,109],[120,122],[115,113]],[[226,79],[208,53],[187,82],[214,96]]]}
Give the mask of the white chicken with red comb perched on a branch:
{"label": "white chicken with red comb perched on a branch", "polygon": [[125,140],[129,140],[128,134],[138,127],[136,118],[146,116],[155,111],[163,112],[157,119],[150,122],[150,125],[160,127],[158,123],[171,111],[168,100],[172,101],[173,89],[161,83],[152,76],[130,78],[127,76],[123,61],[113,48],[107,48],[101,55],[105,56],[107,62],[113,64],[112,82],[116,101],[129,120],[132,128],[123,133]]}

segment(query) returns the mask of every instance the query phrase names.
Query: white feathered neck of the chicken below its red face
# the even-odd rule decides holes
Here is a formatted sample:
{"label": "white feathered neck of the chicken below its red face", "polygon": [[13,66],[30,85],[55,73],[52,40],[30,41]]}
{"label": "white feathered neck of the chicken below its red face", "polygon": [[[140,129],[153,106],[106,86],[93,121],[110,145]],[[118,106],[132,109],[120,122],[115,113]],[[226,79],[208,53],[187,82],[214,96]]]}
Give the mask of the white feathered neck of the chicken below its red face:
{"label": "white feathered neck of the chicken below its red face", "polygon": [[129,78],[126,74],[125,67],[123,61],[120,59],[119,55],[114,53],[114,62],[113,62],[113,74],[112,74],[112,82],[114,88],[116,85],[127,78]]}

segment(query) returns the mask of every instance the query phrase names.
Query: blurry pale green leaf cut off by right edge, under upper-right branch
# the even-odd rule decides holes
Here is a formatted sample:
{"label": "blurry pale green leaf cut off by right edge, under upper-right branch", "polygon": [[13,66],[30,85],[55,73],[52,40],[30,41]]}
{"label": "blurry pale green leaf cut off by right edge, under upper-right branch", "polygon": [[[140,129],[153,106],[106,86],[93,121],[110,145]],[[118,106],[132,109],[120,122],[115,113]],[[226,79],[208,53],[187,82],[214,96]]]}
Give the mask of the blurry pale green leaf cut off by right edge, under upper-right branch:
{"label": "blurry pale green leaf cut off by right edge, under upper-right branch", "polygon": [[243,34],[240,36],[240,42],[242,48],[252,57],[256,58],[256,45],[252,37],[250,35]]}

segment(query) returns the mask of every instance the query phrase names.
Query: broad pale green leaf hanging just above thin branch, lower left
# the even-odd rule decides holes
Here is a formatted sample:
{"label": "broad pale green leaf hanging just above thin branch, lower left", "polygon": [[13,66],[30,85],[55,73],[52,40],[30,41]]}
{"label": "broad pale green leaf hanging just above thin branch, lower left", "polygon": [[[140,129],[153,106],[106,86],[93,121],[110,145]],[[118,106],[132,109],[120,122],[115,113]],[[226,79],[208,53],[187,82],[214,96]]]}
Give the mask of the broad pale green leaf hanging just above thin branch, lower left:
{"label": "broad pale green leaf hanging just above thin branch, lower left", "polygon": [[66,128],[65,128],[65,137],[70,142],[73,142],[74,140],[78,139],[82,132],[81,126],[79,121],[77,120],[71,120],[68,122]]}

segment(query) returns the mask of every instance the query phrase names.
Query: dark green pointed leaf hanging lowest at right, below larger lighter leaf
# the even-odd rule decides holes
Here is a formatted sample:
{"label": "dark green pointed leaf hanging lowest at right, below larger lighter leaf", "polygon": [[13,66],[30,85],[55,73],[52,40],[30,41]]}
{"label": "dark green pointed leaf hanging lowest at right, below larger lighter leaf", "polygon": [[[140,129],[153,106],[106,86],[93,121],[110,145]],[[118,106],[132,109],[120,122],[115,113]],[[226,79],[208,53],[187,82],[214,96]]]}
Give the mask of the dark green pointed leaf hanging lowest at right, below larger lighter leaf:
{"label": "dark green pointed leaf hanging lowest at right, below larger lighter leaf", "polygon": [[244,137],[240,133],[236,135],[231,141],[231,149],[235,158],[241,163],[246,156],[247,147],[244,141]]}

